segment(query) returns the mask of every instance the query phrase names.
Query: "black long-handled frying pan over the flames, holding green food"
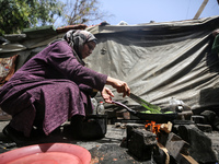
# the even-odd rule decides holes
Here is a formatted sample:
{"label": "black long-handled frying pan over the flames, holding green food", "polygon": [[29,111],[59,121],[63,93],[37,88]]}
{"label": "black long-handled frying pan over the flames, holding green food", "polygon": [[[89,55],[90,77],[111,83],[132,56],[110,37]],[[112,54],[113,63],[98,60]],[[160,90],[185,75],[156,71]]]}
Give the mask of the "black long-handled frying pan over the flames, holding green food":
{"label": "black long-handled frying pan over the flames, holding green food", "polygon": [[150,121],[155,121],[158,124],[164,124],[171,120],[174,120],[177,117],[177,113],[172,113],[172,114],[145,114],[145,113],[140,113],[137,110],[134,110],[131,108],[129,108],[128,106],[119,103],[119,102],[114,102],[113,104],[116,104],[120,107],[126,108],[130,114],[132,114],[134,116],[143,119],[143,120],[150,120]]}

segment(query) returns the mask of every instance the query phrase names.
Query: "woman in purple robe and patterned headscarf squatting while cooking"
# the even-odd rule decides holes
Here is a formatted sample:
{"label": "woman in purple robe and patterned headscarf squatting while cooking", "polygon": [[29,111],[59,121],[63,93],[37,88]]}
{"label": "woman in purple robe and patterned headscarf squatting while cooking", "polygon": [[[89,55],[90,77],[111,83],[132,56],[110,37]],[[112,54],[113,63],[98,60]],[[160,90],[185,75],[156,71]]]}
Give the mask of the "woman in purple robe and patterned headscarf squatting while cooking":
{"label": "woman in purple robe and patterned headscarf squatting while cooking", "polygon": [[30,137],[33,126],[48,136],[72,116],[91,113],[93,89],[112,103],[112,85],[123,96],[129,95],[126,82],[97,73],[84,67],[83,59],[92,54],[96,38],[87,31],[69,31],[31,58],[0,89],[0,106],[12,115],[3,132],[13,131]]}

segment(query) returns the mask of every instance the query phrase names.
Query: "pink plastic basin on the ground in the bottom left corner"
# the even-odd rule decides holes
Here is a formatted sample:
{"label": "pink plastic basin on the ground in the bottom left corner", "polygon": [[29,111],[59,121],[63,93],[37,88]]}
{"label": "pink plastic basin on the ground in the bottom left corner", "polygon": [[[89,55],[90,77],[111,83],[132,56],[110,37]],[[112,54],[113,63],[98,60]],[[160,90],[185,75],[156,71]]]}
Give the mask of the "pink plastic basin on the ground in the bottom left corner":
{"label": "pink plastic basin on the ground in the bottom left corner", "polygon": [[76,144],[43,143],[0,154],[1,164],[90,164],[91,153]]}

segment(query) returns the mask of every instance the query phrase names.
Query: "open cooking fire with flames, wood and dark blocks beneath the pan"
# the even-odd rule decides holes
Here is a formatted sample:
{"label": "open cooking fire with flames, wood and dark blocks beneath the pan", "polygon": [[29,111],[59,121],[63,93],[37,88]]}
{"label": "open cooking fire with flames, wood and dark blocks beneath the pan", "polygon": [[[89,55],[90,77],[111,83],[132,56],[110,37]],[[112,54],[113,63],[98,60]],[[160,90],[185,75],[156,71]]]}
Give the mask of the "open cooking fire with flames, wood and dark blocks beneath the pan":
{"label": "open cooking fire with flames, wood and dark blocks beneath the pan", "polygon": [[205,112],[193,115],[189,119],[175,119],[164,124],[150,120],[127,124],[127,149],[140,161],[151,160],[161,164],[215,164],[218,141],[214,140],[214,133],[218,132],[212,131],[206,122],[205,117],[209,115],[212,113]]}

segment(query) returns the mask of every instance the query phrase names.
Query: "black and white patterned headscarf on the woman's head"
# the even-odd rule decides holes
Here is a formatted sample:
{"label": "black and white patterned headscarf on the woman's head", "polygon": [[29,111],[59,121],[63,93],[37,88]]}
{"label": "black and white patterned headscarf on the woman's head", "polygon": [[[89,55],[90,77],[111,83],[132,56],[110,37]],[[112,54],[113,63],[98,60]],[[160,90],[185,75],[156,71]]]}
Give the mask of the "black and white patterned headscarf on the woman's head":
{"label": "black and white patterned headscarf on the woman's head", "polygon": [[84,62],[82,60],[80,50],[83,48],[83,45],[88,42],[94,42],[96,43],[97,39],[94,37],[93,34],[91,34],[88,31],[81,31],[81,30],[71,30],[68,31],[64,35],[64,39],[69,44],[69,46],[74,51],[74,56],[77,57],[78,61],[84,66]]}

